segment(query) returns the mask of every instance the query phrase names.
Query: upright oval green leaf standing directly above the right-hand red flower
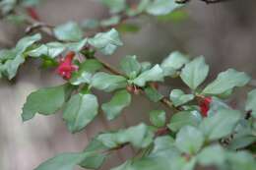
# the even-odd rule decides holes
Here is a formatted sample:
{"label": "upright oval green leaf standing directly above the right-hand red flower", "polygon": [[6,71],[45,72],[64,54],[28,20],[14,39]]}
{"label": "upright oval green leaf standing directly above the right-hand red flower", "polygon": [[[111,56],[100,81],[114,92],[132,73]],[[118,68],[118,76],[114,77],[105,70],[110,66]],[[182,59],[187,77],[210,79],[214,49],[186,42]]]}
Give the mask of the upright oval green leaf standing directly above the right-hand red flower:
{"label": "upright oval green leaf standing directly above the right-hand red flower", "polygon": [[209,66],[203,56],[195,58],[182,69],[180,78],[191,89],[196,89],[208,76]]}

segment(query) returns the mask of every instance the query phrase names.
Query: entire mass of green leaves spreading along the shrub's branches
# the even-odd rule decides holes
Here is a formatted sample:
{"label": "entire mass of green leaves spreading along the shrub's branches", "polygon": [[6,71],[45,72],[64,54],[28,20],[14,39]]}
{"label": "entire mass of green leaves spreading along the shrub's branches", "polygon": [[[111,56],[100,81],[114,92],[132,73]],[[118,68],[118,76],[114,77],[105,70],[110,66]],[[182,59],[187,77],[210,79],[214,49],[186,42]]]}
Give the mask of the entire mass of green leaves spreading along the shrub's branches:
{"label": "entire mass of green leaves spreading along the shrub's branches", "polygon": [[[107,22],[91,21],[90,25],[90,22],[85,24],[86,28],[112,27],[118,25],[123,16],[168,15],[180,7],[174,0],[142,0],[136,8],[131,8],[125,0],[100,1],[113,16]],[[191,59],[178,51],[171,52],[155,65],[128,55],[121,59],[120,71],[116,71],[96,58],[97,51],[111,55],[123,45],[115,28],[85,37],[78,24],[69,22],[53,28],[52,36],[56,40],[47,43],[39,41],[38,33],[27,36],[16,47],[0,52],[0,75],[10,80],[28,57],[56,66],[61,54],[76,53],[73,62],[79,69],[64,85],[32,92],[23,107],[23,121],[32,119],[36,113],[52,115],[62,110],[68,130],[78,133],[92,123],[100,111],[107,120],[116,119],[130,105],[133,94],[138,93],[153,102],[165,103],[171,116],[169,118],[163,110],[153,110],[149,113],[151,125],[140,123],[123,130],[99,133],[85,150],[59,154],[36,170],[72,170],[77,165],[98,169],[112,152],[128,144],[139,154],[112,170],[192,170],[198,166],[255,169],[256,89],[248,93],[241,111],[224,102],[236,87],[249,83],[250,78],[245,73],[227,69],[212,83],[204,85],[210,70],[204,57]],[[189,90],[171,89],[168,97],[163,96],[153,84],[166,78],[179,78]],[[109,101],[99,103],[93,89],[113,94]],[[200,101],[207,97],[211,97],[211,103],[204,115]]]}

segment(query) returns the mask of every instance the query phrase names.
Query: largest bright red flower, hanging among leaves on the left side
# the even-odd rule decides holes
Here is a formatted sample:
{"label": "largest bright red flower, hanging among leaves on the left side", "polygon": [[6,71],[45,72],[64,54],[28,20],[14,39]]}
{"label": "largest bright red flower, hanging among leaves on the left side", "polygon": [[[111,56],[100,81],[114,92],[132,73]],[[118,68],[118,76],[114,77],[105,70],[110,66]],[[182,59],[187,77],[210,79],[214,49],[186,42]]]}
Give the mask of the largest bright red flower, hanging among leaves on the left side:
{"label": "largest bright red flower, hanging among leaves on the left side", "polygon": [[62,58],[57,68],[57,73],[65,80],[69,80],[74,71],[78,70],[78,67],[72,63],[75,57],[75,52],[68,52],[65,58]]}

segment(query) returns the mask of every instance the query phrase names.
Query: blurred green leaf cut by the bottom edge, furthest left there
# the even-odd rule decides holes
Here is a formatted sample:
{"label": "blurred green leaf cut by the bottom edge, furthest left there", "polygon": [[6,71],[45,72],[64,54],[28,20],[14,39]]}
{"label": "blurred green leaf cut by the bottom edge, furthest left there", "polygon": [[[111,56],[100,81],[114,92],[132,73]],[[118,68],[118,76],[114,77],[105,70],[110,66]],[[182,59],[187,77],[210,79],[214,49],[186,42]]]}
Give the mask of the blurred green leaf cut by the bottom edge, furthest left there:
{"label": "blurred green leaf cut by the bottom edge, furthest left there", "polygon": [[83,160],[83,153],[62,153],[41,163],[34,170],[73,170]]}

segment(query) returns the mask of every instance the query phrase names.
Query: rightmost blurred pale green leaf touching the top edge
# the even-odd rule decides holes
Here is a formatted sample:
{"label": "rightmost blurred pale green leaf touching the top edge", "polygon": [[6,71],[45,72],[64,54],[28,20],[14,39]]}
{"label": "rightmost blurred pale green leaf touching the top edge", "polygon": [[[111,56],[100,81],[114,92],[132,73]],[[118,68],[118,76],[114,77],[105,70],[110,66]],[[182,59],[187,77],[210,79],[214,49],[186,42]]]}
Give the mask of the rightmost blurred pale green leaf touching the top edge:
{"label": "rightmost blurred pale green leaf touching the top edge", "polygon": [[175,0],[154,0],[148,5],[147,13],[154,16],[166,15],[181,6]]}

